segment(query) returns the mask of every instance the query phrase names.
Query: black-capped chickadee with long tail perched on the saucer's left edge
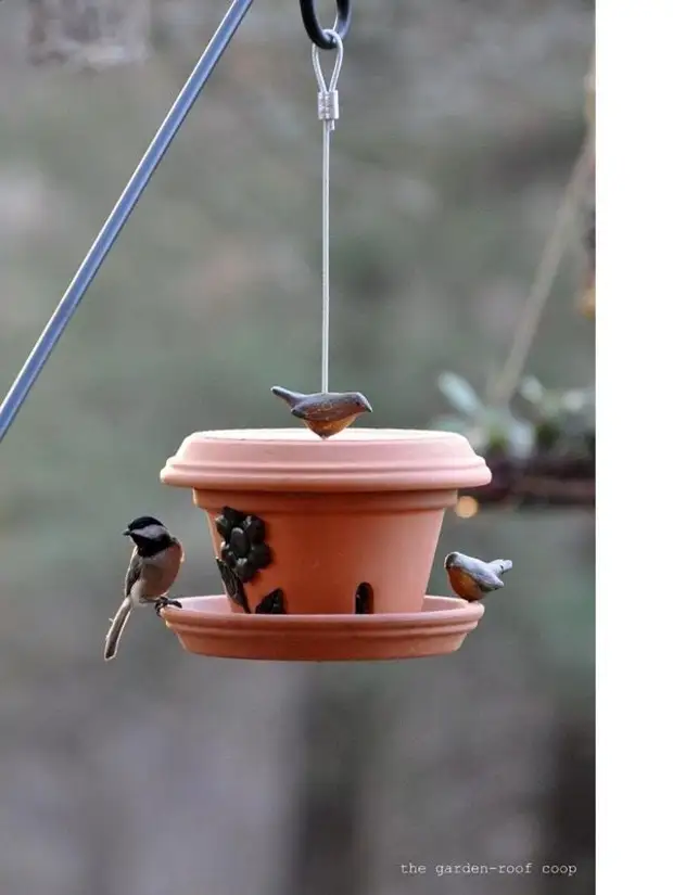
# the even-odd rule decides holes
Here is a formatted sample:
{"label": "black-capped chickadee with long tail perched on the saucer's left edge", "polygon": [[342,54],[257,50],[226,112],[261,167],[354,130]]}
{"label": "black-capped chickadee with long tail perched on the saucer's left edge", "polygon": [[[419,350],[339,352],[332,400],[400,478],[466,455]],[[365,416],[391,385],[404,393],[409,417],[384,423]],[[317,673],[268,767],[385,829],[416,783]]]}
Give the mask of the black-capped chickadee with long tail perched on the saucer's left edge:
{"label": "black-capped chickadee with long tail perched on the saucer's left edge", "polygon": [[135,606],[152,603],[157,615],[164,606],[182,609],[177,600],[166,597],[185,559],[180,541],[154,516],[135,519],[124,535],[136,547],[126,572],[124,600],[105,638],[105,662],[117,654],[119,637]]}

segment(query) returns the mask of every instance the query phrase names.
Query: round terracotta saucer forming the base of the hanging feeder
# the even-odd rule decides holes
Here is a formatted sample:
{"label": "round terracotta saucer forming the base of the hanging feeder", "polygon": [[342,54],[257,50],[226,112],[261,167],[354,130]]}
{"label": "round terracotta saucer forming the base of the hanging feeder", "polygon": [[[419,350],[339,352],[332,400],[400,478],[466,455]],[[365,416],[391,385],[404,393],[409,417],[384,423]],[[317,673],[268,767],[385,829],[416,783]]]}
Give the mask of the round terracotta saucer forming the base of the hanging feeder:
{"label": "round terracotta saucer forming the base of the hanging feeder", "polygon": [[484,614],[481,603],[426,597],[422,612],[244,615],[223,596],[180,598],[162,617],[191,653],[220,659],[347,662],[453,653]]}

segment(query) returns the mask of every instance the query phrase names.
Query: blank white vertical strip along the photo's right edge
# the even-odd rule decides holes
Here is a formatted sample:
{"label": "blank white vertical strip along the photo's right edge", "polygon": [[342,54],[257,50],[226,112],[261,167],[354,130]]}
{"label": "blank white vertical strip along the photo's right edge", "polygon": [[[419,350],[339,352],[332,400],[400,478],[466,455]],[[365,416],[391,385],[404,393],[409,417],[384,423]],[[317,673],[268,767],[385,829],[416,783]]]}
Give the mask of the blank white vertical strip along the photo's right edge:
{"label": "blank white vertical strip along the photo's right edge", "polygon": [[673,879],[673,3],[597,9],[598,893]]}

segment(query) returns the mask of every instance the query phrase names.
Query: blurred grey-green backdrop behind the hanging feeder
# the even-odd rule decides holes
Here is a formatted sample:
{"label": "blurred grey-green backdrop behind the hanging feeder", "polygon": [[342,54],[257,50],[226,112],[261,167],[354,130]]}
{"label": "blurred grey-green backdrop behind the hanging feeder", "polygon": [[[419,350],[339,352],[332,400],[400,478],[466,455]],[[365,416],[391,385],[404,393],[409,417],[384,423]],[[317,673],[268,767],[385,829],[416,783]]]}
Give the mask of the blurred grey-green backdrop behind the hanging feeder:
{"label": "blurred grey-green backdrop behind the hanging feeder", "polygon": [[[424,427],[443,370],[483,388],[509,349],[583,139],[593,9],[354,5],[331,384],[371,424]],[[104,72],[30,65],[30,7],[0,4],[2,394],[226,3],[154,2],[148,60]],[[271,384],[319,386],[315,103],[297,3],[258,0],[2,444],[3,894],[594,891],[592,512],[447,516],[437,558],[515,562],[454,656],[208,662],[138,613],[102,662],[132,516],[186,542],[181,592],[219,588],[166,457],[194,430],[287,424]],[[594,378],[580,269],[571,245],[529,359],[554,387]]]}

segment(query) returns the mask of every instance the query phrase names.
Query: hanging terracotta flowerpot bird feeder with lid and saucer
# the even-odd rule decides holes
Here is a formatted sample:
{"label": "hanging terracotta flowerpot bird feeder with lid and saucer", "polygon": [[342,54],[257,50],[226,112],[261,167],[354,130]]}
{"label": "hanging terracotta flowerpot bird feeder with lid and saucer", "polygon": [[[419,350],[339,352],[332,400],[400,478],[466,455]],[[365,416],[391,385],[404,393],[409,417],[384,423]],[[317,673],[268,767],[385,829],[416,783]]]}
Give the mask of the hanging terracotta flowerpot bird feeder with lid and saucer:
{"label": "hanging terracotta flowerpot bird feeder with lid and saucer", "polygon": [[194,653],[404,659],[457,650],[481,603],[427,597],[445,510],[491,473],[461,435],[199,432],[162,481],[205,511],[225,596],[162,616]]}

